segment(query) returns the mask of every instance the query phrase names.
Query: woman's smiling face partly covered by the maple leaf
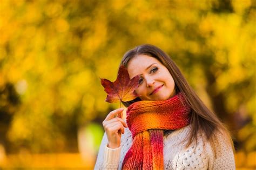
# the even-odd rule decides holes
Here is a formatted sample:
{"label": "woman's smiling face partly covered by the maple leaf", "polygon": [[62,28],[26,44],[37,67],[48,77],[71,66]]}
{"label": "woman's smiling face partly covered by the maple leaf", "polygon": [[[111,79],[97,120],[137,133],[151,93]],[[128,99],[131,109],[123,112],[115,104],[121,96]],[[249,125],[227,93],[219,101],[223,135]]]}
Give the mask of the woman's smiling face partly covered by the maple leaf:
{"label": "woman's smiling face partly covered by the maple leaf", "polygon": [[176,94],[170,72],[156,58],[147,55],[133,57],[127,70],[130,79],[140,75],[139,87],[135,91],[142,100],[167,100]]}

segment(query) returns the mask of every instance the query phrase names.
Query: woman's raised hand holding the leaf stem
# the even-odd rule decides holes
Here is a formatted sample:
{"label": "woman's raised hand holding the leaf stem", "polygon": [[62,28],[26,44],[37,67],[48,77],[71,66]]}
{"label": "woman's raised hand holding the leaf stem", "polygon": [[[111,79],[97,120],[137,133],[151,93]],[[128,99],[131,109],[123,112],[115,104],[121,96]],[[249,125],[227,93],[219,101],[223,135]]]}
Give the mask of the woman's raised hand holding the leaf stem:
{"label": "woman's raised hand holding the leaf stem", "polygon": [[[103,127],[107,135],[109,148],[118,148],[121,143],[121,135],[124,134],[124,128],[127,127],[125,121],[122,118],[122,112],[124,108],[118,108],[107,114],[103,121]],[[121,118],[117,115],[121,114]]]}

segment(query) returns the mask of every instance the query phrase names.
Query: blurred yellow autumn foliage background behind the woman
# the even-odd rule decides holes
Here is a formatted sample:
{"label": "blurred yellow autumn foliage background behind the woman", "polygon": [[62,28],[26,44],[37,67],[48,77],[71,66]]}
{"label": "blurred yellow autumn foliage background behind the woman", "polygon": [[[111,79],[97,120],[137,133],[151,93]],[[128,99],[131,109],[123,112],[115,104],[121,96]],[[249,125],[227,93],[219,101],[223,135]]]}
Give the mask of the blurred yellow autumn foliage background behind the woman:
{"label": "blurred yellow autumn foliage background behind the woman", "polygon": [[255,0],[1,0],[0,168],[92,169],[132,47],[178,64],[231,130],[238,169],[256,168]]}

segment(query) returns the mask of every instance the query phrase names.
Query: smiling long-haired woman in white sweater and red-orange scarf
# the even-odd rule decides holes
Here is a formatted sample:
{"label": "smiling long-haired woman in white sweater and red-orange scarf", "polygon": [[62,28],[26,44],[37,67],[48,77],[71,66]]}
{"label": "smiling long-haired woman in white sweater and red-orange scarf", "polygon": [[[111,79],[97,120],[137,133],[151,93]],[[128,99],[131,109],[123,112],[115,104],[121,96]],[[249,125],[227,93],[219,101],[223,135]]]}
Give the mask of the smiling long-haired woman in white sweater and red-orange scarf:
{"label": "smiling long-haired woman in white sweater and red-orange scarf", "polygon": [[139,97],[123,103],[126,121],[123,108],[103,121],[95,169],[235,169],[230,134],[165,52],[140,45],[121,65],[140,75]]}

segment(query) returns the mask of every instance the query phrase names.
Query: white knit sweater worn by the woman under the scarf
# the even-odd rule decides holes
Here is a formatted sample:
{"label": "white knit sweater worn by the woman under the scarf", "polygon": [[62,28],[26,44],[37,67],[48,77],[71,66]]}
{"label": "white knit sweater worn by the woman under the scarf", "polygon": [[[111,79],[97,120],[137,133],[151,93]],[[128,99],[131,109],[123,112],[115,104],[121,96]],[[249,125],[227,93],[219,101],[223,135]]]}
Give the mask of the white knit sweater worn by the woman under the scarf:
{"label": "white knit sweater worn by the woman under the scarf", "polygon": [[[214,153],[209,142],[204,142],[199,136],[198,142],[185,147],[187,134],[191,126],[180,128],[164,137],[164,168],[165,169],[235,169],[232,146],[228,144],[226,137],[218,133],[219,146],[218,157]],[[122,169],[125,154],[132,145],[132,134],[129,128],[121,137],[119,148],[111,149],[107,146],[107,137],[104,134],[102,144],[95,165],[95,169]]]}

